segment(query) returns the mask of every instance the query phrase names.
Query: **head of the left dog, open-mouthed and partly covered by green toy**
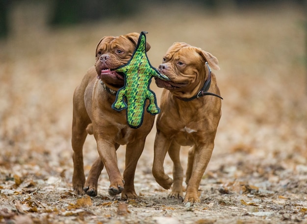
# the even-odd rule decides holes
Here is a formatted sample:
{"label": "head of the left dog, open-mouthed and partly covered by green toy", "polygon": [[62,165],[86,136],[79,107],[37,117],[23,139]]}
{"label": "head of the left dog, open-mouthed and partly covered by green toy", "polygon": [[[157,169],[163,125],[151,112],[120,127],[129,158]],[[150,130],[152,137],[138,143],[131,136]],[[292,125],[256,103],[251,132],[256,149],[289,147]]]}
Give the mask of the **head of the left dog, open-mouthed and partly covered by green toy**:
{"label": "head of the left dog, open-mouthed and partly covered by green toy", "polygon": [[[112,71],[130,60],[138,42],[139,33],[121,36],[105,36],[96,47],[95,68],[102,81],[111,87],[124,86],[124,74]],[[150,49],[147,43],[146,51]]]}

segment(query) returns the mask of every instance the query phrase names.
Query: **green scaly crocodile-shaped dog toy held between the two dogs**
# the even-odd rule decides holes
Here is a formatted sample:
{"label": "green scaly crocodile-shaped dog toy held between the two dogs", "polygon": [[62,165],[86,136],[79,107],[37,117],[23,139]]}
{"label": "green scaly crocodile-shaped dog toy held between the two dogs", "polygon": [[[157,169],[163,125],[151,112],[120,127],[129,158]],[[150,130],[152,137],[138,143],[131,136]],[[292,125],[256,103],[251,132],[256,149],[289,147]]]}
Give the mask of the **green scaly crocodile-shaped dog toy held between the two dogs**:
{"label": "green scaly crocodile-shaped dog toy held between the two dogs", "polygon": [[147,99],[150,101],[147,112],[153,115],[160,112],[155,94],[149,88],[153,76],[170,80],[150,64],[146,54],[146,33],[144,31],[140,33],[138,43],[128,63],[114,69],[116,72],[125,74],[125,85],[118,90],[112,108],[117,111],[127,109],[128,125],[133,128],[138,128],[143,123]]}

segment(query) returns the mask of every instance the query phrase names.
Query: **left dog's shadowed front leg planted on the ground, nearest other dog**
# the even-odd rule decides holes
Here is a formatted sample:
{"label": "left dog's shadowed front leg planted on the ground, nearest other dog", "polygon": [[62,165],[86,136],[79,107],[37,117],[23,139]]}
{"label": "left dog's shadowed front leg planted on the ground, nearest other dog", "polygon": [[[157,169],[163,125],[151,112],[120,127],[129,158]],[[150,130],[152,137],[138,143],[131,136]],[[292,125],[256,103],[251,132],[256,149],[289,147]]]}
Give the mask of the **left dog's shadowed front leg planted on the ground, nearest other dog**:
{"label": "left dog's shadowed front leg planted on the ground, nearest other dog", "polygon": [[123,199],[136,199],[134,189],[134,174],[137,162],[143,152],[145,138],[138,139],[126,147],[126,169],[124,171],[125,189],[122,192]]}

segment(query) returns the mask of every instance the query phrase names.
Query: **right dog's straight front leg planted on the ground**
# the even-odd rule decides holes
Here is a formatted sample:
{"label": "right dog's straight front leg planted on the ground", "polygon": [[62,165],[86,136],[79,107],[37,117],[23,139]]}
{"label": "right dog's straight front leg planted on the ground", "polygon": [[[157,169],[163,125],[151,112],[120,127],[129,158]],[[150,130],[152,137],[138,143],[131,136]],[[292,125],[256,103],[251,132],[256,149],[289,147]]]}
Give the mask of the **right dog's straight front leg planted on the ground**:
{"label": "right dog's straight front leg planted on the ground", "polygon": [[198,188],[202,180],[205,169],[210,161],[214,144],[206,144],[205,146],[196,146],[193,160],[192,174],[188,181],[185,202],[199,203]]}

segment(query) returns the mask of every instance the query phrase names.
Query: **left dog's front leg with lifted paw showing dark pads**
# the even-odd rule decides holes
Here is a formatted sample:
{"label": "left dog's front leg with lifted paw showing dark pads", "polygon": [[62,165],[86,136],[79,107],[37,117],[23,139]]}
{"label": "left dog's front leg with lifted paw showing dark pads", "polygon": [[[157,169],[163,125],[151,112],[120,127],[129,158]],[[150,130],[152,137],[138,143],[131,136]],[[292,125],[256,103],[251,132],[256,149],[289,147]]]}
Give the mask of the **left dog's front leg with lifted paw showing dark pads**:
{"label": "left dog's front leg with lifted paw showing dark pads", "polygon": [[115,145],[104,141],[102,138],[96,137],[96,141],[98,153],[110,179],[109,195],[118,195],[124,190],[124,182],[117,166]]}

